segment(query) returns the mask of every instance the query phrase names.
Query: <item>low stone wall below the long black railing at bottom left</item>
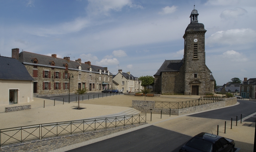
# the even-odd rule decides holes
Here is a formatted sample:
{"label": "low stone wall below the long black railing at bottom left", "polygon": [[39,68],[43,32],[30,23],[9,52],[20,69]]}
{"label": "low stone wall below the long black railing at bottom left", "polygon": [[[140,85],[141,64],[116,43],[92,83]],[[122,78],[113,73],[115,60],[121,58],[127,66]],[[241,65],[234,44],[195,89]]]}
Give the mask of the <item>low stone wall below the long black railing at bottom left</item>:
{"label": "low stone wall below the long black railing at bottom left", "polygon": [[146,123],[140,123],[135,125],[127,125],[117,128],[102,129],[96,131],[88,131],[85,133],[77,133],[73,135],[59,136],[44,138],[41,140],[32,140],[20,144],[12,144],[7,146],[2,146],[0,152],[2,151],[38,151],[38,152],[48,152],[58,148],[70,146],[73,144],[81,143],[87,140],[99,138],[109,134],[113,134],[119,131],[127,130],[133,127],[144,125]]}

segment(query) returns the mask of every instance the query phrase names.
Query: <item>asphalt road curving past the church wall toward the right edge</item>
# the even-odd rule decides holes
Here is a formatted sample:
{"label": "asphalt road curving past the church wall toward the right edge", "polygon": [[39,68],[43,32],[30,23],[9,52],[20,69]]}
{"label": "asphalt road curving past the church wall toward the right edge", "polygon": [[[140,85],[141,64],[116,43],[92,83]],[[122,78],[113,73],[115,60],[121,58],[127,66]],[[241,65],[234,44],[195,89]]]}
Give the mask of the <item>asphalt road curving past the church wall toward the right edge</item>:
{"label": "asphalt road curving past the church wall toward the right edge", "polygon": [[[236,106],[231,106],[227,108],[202,112],[198,114],[189,115],[191,117],[201,117],[201,118],[211,118],[211,119],[222,119],[222,120],[231,120],[236,121],[236,116],[238,120],[247,117],[256,112],[256,102],[248,100],[237,100],[240,104]],[[254,119],[255,122],[255,119]]]}

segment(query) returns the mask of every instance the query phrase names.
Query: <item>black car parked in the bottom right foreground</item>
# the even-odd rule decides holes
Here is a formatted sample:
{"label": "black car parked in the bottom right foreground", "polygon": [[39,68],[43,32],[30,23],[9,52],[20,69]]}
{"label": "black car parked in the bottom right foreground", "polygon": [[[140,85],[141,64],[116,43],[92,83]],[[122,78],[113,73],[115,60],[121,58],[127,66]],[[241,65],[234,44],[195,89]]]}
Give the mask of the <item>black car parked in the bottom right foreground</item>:
{"label": "black car parked in the bottom right foreground", "polygon": [[234,140],[202,132],[191,138],[179,152],[234,152]]}

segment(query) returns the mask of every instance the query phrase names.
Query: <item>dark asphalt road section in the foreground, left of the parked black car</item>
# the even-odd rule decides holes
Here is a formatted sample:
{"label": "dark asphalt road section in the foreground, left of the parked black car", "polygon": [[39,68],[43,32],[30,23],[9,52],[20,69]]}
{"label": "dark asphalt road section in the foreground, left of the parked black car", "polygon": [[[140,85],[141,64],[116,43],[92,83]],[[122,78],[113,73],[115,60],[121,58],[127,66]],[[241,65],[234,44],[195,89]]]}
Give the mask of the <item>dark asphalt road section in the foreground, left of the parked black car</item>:
{"label": "dark asphalt road section in the foreground, left of the parked black car", "polygon": [[177,152],[192,137],[157,126],[149,126],[67,152]]}

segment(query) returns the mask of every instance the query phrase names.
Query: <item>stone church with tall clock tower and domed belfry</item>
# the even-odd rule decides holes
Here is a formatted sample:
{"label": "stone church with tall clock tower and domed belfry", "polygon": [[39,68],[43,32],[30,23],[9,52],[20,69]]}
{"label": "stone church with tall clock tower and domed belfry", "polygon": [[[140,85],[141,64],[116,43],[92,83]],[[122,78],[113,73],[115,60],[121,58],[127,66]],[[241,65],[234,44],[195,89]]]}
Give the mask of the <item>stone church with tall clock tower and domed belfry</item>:
{"label": "stone church with tall clock tower and domed belfry", "polygon": [[185,30],[182,60],[165,60],[154,75],[156,92],[184,95],[214,93],[214,77],[205,65],[204,24],[198,23],[198,12],[192,10]]}

